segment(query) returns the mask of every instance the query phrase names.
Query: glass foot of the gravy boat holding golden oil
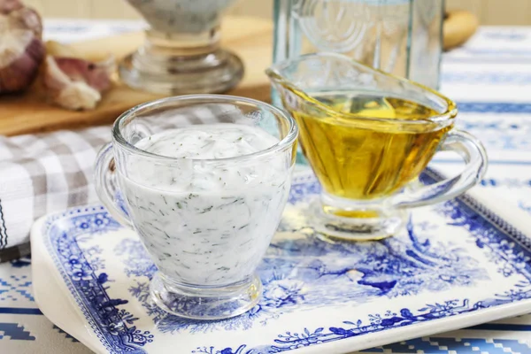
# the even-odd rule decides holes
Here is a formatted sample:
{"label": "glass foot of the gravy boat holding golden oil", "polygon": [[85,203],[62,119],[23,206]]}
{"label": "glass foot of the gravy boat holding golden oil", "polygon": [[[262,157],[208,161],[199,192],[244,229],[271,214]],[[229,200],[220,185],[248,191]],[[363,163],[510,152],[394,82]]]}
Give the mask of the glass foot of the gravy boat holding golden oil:
{"label": "glass foot of the gravy boat holding golden oil", "polygon": [[334,206],[326,196],[309,206],[311,226],[319,234],[345,241],[374,241],[396,235],[403,229],[408,212],[382,209],[375,204],[350,203]]}

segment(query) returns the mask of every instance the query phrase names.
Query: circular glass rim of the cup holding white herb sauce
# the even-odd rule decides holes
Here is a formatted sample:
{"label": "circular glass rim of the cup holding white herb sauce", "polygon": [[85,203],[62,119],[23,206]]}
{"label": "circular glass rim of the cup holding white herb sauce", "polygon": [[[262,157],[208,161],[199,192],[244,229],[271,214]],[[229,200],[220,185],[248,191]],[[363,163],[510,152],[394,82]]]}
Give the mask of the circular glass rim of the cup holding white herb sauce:
{"label": "circular glass rim of the cup holding white herb sauce", "polygon": [[[241,97],[241,96],[229,96],[229,95],[213,95],[213,94],[196,94],[196,95],[183,95],[183,96],[171,96],[160,98],[158,100],[146,102],[143,104],[138,104],[135,107],[123,112],[119,115],[118,119],[114,121],[112,126],[112,140],[117,143],[120,147],[135,153],[137,155],[143,155],[147,158],[156,158],[160,160],[165,160],[167,162],[180,161],[182,158],[173,158],[164,155],[158,155],[146,150],[137,148],[131,142],[127,142],[126,138],[121,134],[121,127],[123,127],[126,119],[131,118],[137,112],[146,111],[153,108],[160,108],[171,105],[173,103],[181,102],[196,102],[197,104],[248,104],[251,106],[256,106],[257,108],[264,109],[268,112],[272,112],[274,116],[280,117],[281,119],[288,122],[289,130],[287,134],[277,143],[273,144],[265,150],[259,150],[250,154],[236,156],[232,158],[187,158],[188,162],[200,162],[200,163],[212,163],[212,162],[240,162],[243,160],[255,159],[255,158],[264,158],[269,155],[273,155],[279,151],[285,150],[289,146],[293,145],[296,141],[298,135],[298,127],[296,126],[295,119],[293,119],[289,113],[274,107],[271,104],[266,104],[265,102],[258,101],[256,99]],[[202,102],[204,101],[204,102]]]}

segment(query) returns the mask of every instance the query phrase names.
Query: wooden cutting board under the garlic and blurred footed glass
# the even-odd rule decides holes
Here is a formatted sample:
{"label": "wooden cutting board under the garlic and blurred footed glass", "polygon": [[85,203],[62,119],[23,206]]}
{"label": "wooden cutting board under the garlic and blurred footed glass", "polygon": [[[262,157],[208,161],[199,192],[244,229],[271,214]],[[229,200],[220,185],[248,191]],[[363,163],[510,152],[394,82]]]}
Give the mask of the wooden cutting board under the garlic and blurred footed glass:
{"label": "wooden cutting board under the garlic and blurred footed glass", "polygon": [[[273,58],[273,25],[265,19],[227,17],[222,26],[222,43],[242,58],[245,74],[230,95],[269,100],[270,86],[264,71]],[[74,49],[87,58],[104,58],[112,53],[123,58],[143,42],[142,33],[117,35],[75,43]],[[162,96],[129,89],[118,81],[104,94],[94,111],[72,112],[47,104],[35,88],[23,95],[0,97],[0,135],[21,135],[65,128],[109,124],[127,109]]]}

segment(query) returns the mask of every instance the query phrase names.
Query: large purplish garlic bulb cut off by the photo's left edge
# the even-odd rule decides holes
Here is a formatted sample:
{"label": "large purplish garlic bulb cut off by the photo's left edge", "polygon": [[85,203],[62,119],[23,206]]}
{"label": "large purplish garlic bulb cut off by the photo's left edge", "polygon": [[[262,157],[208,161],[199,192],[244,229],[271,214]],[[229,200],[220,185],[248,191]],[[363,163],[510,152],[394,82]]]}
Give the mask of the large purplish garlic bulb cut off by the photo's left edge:
{"label": "large purplish garlic bulb cut off by the photo's left edge", "polygon": [[0,95],[27,89],[35,80],[45,53],[41,37],[37,12],[0,0]]}

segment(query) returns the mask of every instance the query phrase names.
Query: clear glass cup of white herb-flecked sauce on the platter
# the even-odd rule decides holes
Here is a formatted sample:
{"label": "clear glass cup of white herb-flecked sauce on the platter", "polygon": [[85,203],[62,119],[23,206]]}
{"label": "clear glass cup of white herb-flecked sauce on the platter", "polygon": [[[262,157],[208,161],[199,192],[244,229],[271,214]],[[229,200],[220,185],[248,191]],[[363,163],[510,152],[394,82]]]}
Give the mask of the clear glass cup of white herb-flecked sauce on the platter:
{"label": "clear glass cup of white herb-flecked sauce on the platter", "polygon": [[96,159],[96,191],[158,267],[151,297],[189,319],[258,303],[255,273],[281,219],[297,127],[269,104],[193,95],[123,113]]}

